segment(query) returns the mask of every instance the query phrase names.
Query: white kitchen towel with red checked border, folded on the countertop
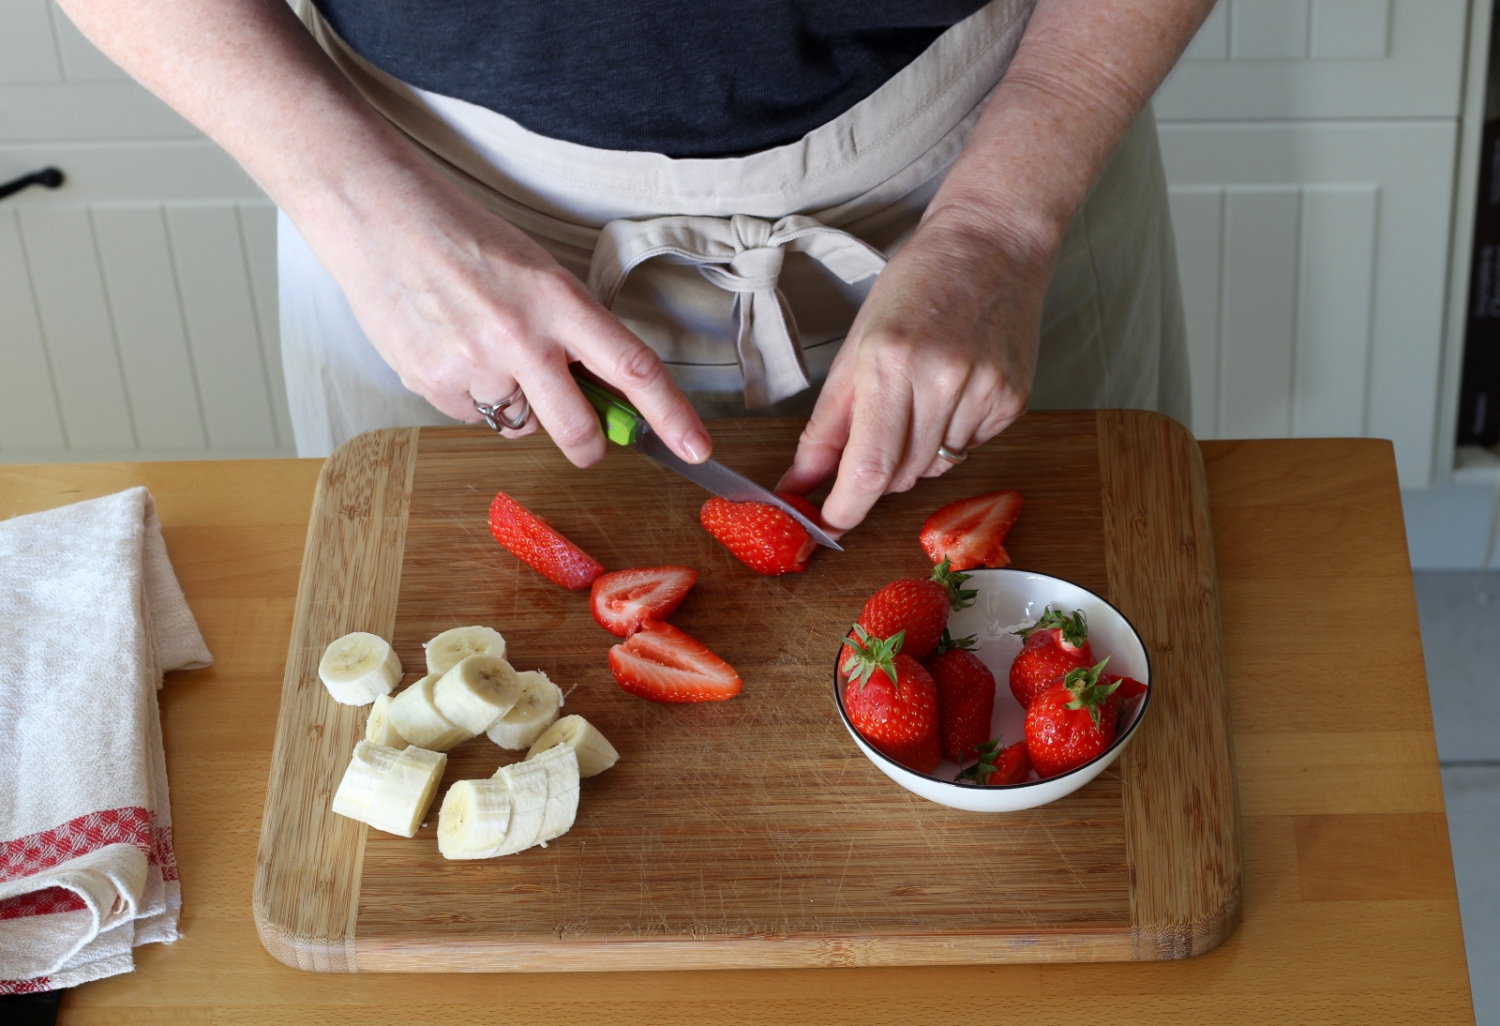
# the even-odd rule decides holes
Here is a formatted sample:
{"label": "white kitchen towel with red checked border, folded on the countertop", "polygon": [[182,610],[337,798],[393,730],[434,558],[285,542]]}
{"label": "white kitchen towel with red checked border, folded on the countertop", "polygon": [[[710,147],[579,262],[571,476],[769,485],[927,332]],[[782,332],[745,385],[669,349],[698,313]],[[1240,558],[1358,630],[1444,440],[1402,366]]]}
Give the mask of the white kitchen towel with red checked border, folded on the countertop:
{"label": "white kitchen towel with red checked border, folded on the countertop", "polygon": [[0,994],[177,939],[156,690],[212,662],[144,488],[0,522]]}

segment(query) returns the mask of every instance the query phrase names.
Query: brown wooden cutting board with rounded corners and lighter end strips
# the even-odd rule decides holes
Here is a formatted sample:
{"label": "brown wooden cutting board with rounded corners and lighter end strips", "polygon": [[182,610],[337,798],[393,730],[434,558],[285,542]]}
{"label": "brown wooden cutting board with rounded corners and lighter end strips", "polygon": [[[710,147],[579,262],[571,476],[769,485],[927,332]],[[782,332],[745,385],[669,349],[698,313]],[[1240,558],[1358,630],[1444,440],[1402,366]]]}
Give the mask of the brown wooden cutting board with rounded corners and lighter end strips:
{"label": "brown wooden cutting board with rounded corners and lighter end strips", "polygon": [[[774,483],[800,422],[710,424],[716,456]],[[1014,566],[1113,602],[1150,652],[1154,698],[1122,758],[1024,813],[936,806],[882,776],[834,710],[837,642],[876,588],[926,576],[932,510],[1024,495]],[[490,538],[496,490],[609,568],[681,562],[699,582],[672,622],[746,681],[729,702],[658,705],[609,675],[616,639]],[[1200,954],[1239,920],[1239,822],[1203,464],[1146,412],[1030,414],[946,476],[882,500],[802,574],[762,578],[698,524],[705,494],[628,450],[580,471],[532,435],[399,429],[340,447],[318,482],[255,874],[266,948],[333,972],[618,970],[1059,960]],[[542,849],[438,855],[328,804],[368,706],[318,682],[324,646],[392,638],[405,684],[422,642],[492,624],[519,669],[620,764],[584,782],[578,822]],[[576,687],[574,687],[576,686]],[[570,690],[572,688],[572,690]],[[483,736],[444,789],[518,754]]]}

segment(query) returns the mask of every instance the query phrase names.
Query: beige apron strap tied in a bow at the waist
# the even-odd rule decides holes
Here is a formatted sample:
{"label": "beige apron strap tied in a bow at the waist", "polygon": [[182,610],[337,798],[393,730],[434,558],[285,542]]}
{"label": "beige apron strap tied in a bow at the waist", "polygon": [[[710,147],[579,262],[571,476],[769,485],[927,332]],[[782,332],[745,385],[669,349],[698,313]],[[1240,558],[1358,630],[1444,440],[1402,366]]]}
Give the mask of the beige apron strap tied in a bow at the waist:
{"label": "beige apron strap tied in a bow at the waist", "polygon": [[788,249],[807,254],[850,285],[885,267],[874,246],[804,214],[774,225],[747,214],[652,218],[604,225],[588,286],[609,309],[626,278],[645,261],[664,256],[696,266],[704,278],[735,296],[735,351],[746,381],[746,408],[759,410],[812,384],[796,320],[777,288]]}

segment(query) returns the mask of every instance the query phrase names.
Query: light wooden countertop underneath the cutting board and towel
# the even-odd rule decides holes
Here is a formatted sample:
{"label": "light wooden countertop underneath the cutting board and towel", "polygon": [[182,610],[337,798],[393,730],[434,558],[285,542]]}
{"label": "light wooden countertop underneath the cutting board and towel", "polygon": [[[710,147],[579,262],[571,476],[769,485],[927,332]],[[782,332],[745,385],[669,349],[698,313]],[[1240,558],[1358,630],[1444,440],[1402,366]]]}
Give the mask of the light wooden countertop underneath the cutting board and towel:
{"label": "light wooden countertop underneath the cutting board and towel", "polygon": [[1176,963],[327,975],[250,885],[318,460],[0,466],[0,516],[146,484],[214,654],[162,692],[183,939],[60,1023],[1473,1023],[1390,446],[1204,442],[1244,922]]}

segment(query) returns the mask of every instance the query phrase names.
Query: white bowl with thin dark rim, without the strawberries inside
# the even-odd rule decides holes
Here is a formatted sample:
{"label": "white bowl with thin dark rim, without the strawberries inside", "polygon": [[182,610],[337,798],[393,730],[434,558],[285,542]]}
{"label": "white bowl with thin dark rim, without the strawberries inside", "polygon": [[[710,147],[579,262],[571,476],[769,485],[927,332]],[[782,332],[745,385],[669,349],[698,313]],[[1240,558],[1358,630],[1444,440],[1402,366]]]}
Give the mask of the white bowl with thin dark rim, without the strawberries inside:
{"label": "white bowl with thin dark rim, without the strawberries inside", "polygon": [[1041,616],[1044,608],[1052,606],[1062,612],[1082,609],[1089,621],[1089,644],[1094,646],[1094,654],[1098,658],[1110,657],[1106,672],[1134,676],[1148,686],[1144,694],[1120,706],[1114,742],[1090,762],[1047,780],[1036,780],[1034,774],[1032,780],[1018,784],[980,786],[954,782],[958,766],[946,759],[932,774],[916,772],[882,754],[861,738],[843,706],[846,678],[837,666],[837,654],[834,656],[834,705],[838,706],[838,716],[849,730],[849,736],[868,756],[870,762],[912,794],[968,812],[1020,812],[1022,808],[1046,806],[1048,801],[1071,795],[1119,758],[1150,704],[1150,658],[1146,656],[1140,634],[1120,615],[1119,609],[1086,588],[1029,570],[976,568],[966,573],[969,580],[964,588],[974,588],[980,594],[972,606],[958,609],[950,616],[948,630],[954,638],[974,634],[980,660],[994,674],[994,717],[990,720],[990,736],[1000,738],[1004,744],[1014,744],[1024,738],[1026,710],[1011,694],[1010,687],[1011,662],[1022,650],[1022,639],[1011,632],[1017,630],[1020,624],[1034,622]]}

